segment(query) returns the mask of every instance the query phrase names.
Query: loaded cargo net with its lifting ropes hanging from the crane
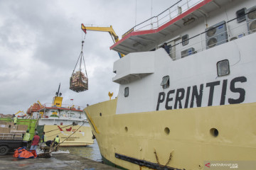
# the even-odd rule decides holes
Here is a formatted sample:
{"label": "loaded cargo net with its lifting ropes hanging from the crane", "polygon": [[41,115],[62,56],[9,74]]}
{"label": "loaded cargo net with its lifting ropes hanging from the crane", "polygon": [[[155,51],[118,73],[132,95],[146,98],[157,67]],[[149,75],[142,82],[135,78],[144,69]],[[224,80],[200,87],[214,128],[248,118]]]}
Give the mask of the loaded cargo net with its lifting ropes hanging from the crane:
{"label": "loaded cargo net with its lifting ropes hanging from the crane", "polygon": [[[83,47],[82,41],[82,47]],[[85,73],[82,72],[82,61],[84,64]],[[80,55],[78,57],[79,68],[78,71],[75,72],[75,69],[73,70],[73,74],[70,77],[70,90],[75,92],[81,92],[88,90],[88,78],[87,78],[87,72],[85,68],[85,58],[83,56],[83,52],[81,50]],[[78,62],[75,64],[75,68],[78,65]]]}

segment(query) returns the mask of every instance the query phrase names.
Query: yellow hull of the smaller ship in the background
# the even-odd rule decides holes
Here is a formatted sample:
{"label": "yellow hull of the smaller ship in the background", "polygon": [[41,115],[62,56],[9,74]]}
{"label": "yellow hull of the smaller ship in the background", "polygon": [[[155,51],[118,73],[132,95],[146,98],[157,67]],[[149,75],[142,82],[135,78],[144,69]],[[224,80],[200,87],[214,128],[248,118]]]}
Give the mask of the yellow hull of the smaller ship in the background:
{"label": "yellow hull of the smaller ship in the background", "polygon": [[[71,125],[65,127],[65,125],[44,125],[43,131],[46,132],[46,140],[53,140],[58,135],[60,142],[65,140],[60,144],[61,147],[78,147],[93,144],[92,128],[89,126]],[[77,129],[78,131],[75,132]]]}

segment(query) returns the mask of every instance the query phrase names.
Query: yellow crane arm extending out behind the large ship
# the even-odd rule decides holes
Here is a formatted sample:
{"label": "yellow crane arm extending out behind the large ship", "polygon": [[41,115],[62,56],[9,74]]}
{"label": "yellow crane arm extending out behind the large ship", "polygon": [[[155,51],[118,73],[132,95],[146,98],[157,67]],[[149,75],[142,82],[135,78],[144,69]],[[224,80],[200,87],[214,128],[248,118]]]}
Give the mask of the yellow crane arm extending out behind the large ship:
{"label": "yellow crane arm extending out behind the large ship", "polygon": [[[119,41],[119,38],[118,38],[117,34],[114,32],[114,29],[112,28],[112,26],[110,26],[110,27],[98,27],[98,26],[85,27],[83,24],[81,24],[81,28],[82,28],[83,32],[85,32],[85,33],[86,33],[86,30],[108,32],[108,33],[110,33],[110,36],[114,43]],[[118,52],[118,55],[120,58],[124,57],[124,55],[119,52]]]}

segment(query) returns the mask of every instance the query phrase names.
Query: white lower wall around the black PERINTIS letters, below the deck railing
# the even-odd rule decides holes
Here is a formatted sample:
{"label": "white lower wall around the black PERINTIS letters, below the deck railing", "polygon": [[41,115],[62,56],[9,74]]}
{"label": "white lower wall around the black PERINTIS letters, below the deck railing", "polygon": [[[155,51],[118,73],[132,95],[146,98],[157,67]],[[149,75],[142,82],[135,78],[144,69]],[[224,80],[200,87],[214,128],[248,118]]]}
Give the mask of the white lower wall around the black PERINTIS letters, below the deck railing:
{"label": "white lower wall around the black PERINTIS letters, below the deck railing", "polygon": [[[171,57],[169,57],[162,48],[154,52],[138,52],[125,56],[127,58],[137,57],[138,61],[141,61],[144,56],[154,56],[154,74],[149,74],[142,79],[137,79],[127,84],[120,84],[117,98],[117,114],[156,111],[159,92],[164,91],[167,94],[168,91],[172,89],[186,89],[188,86],[199,86],[200,84],[203,84],[201,106],[206,107],[208,106],[210,89],[206,87],[206,83],[213,81],[220,81],[220,85],[215,86],[213,96],[213,106],[219,106],[223,79],[228,79],[225,98],[225,104],[228,104],[228,98],[239,97],[238,93],[230,91],[230,81],[235,77],[242,76],[247,78],[247,82],[238,82],[235,84],[235,87],[245,89],[245,101],[243,101],[243,103],[255,102],[255,89],[252,88],[255,86],[256,81],[256,49],[253,46],[255,39],[256,34],[247,35],[238,40],[218,45],[217,47],[198,52],[195,55],[190,55],[176,61],[171,60]],[[129,61],[129,64],[133,65],[135,64],[133,62],[137,62],[137,60],[125,61]],[[216,64],[221,60],[228,60],[230,62],[230,74],[228,76],[218,77],[217,75]],[[122,62],[122,64],[125,65],[127,63]],[[139,64],[144,67],[146,62],[139,62]],[[122,67],[119,66],[119,68]],[[116,71],[117,73],[119,72],[118,69]],[[170,86],[168,89],[162,89],[160,86],[161,80],[166,75],[170,77]],[[124,97],[124,88],[127,86],[129,87],[129,96]],[[174,100],[175,95],[176,94],[173,94]],[[185,99],[183,99],[181,103],[182,107],[184,107]],[[171,101],[169,106],[174,107],[174,101]],[[195,102],[193,107],[196,107]],[[159,110],[166,110],[165,101],[160,104]]]}

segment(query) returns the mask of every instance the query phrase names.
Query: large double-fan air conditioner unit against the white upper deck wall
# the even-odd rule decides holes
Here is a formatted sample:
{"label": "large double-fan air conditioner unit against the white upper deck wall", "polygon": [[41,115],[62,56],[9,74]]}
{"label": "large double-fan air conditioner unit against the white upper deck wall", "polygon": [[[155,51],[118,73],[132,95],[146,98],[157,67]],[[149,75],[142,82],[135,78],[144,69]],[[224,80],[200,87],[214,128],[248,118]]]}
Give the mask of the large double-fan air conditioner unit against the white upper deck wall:
{"label": "large double-fan air conditioner unit against the white upper deck wall", "polygon": [[227,26],[225,21],[206,28],[206,49],[228,42]]}

